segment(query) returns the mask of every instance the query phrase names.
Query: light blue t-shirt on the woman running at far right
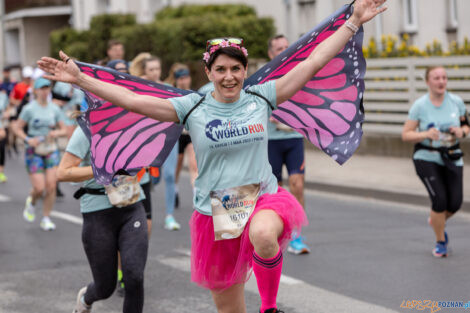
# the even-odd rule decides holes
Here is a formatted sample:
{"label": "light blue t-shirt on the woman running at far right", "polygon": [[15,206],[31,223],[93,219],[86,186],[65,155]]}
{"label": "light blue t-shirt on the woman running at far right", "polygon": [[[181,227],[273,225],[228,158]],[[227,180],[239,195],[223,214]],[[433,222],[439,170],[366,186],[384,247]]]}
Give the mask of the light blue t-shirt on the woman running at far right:
{"label": "light blue t-shirt on the woman running at far right", "polygon": [[[454,94],[446,92],[444,101],[439,107],[432,104],[429,99],[429,94],[420,97],[411,106],[408,113],[408,119],[419,122],[419,131],[426,131],[429,128],[434,127],[440,132],[447,132],[450,127],[460,126],[460,117],[463,115],[465,115],[465,104],[462,99]],[[421,143],[435,148],[442,146],[441,140],[433,140],[431,142],[431,140],[425,139],[421,141]],[[415,152],[413,159],[444,165],[442,157],[438,151],[421,149]],[[462,166],[463,159],[460,158],[454,163],[457,166]]]}

